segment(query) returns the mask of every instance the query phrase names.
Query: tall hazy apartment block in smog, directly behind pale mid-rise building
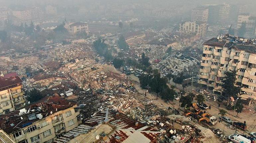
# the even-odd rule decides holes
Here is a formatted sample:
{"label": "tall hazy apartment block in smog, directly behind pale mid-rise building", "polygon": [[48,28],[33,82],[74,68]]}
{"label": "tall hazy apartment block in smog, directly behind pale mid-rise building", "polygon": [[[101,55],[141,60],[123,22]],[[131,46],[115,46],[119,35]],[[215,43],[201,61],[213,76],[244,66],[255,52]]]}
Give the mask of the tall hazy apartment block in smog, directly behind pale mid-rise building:
{"label": "tall hazy apartment block in smog, directly behind pale mid-rise building", "polygon": [[202,21],[202,22],[206,23],[208,21],[208,15],[209,15],[208,8],[197,7],[197,8],[192,9],[191,20],[192,21]]}

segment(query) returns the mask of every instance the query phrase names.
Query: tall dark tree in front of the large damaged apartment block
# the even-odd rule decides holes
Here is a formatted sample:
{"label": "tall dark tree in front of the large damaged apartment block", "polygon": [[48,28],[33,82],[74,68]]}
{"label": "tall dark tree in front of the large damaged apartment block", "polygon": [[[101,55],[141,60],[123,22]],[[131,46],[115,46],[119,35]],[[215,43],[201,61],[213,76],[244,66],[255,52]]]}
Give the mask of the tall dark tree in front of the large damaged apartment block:
{"label": "tall dark tree in front of the large damaged apartment block", "polygon": [[224,97],[228,99],[229,104],[229,99],[230,97],[237,97],[237,94],[240,92],[240,87],[235,86],[235,81],[236,81],[236,71],[231,70],[231,71],[226,71],[225,72],[225,78],[222,81],[222,90],[224,93]]}

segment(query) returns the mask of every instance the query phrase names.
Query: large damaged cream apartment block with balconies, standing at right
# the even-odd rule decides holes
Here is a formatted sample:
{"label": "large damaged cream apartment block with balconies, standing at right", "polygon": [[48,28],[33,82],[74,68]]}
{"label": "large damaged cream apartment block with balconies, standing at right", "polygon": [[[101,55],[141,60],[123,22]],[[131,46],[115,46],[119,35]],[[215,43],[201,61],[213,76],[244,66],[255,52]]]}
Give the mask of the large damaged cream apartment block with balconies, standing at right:
{"label": "large damaged cream apartment block with balconies, standing at right", "polygon": [[222,93],[225,72],[237,70],[236,86],[241,87],[239,97],[252,101],[256,99],[256,45],[255,39],[244,39],[226,35],[209,39],[203,43],[198,83]]}

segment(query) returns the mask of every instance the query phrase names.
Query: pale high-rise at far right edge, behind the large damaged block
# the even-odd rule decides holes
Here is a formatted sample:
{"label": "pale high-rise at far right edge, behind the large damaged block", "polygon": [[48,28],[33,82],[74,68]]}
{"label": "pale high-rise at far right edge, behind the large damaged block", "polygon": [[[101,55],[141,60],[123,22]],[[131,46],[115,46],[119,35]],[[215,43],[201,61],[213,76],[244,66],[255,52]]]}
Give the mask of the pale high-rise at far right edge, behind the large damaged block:
{"label": "pale high-rise at far right edge, behind the large damaged block", "polygon": [[239,29],[242,24],[245,24],[246,33],[245,36],[253,37],[256,35],[256,16],[251,16],[250,14],[239,14],[237,19],[237,29]]}

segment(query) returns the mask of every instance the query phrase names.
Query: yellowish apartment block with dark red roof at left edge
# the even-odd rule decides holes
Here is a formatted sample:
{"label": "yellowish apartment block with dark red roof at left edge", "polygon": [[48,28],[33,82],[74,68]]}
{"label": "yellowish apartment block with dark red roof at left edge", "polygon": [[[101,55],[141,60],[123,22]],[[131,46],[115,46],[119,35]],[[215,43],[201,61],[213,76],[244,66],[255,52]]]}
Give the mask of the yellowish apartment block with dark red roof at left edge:
{"label": "yellowish apartment block with dark red roof at left edge", "polygon": [[23,107],[25,99],[21,90],[22,80],[16,73],[9,73],[0,77],[0,114]]}

